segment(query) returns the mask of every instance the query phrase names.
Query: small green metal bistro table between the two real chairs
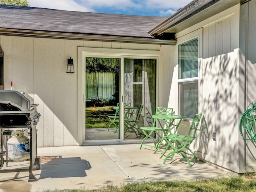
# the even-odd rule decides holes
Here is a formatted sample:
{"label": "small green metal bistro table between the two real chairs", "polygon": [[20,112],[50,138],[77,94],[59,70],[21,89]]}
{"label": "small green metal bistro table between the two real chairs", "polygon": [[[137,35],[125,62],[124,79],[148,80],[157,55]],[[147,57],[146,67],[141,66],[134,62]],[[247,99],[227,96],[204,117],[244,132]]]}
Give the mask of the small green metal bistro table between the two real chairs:
{"label": "small green metal bistro table between the two real chairs", "polygon": [[[183,115],[152,115],[152,118],[157,119],[160,127],[164,132],[164,136],[166,136],[168,134],[175,134],[180,126],[180,123],[182,122],[182,119],[186,119],[187,117]],[[164,125],[162,125],[160,120],[164,121]],[[179,120],[177,124],[175,124],[175,120]],[[164,131],[164,126],[166,126],[168,131]],[[171,127],[173,127],[172,128],[172,130],[174,130],[173,132],[171,130]],[[154,153],[156,153],[159,150],[162,142],[163,142],[163,138],[161,138],[158,141],[156,145],[156,150],[154,151]]]}

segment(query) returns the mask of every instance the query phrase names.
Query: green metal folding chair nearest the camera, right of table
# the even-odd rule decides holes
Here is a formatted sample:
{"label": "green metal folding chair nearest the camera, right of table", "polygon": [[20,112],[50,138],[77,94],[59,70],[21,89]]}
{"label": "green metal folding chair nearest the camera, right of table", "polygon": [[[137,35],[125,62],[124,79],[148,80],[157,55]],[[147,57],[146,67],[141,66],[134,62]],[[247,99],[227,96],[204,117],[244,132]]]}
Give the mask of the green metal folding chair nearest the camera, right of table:
{"label": "green metal folding chair nearest the camera, right of table", "polygon": [[[186,158],[189,166],[192,167],[190,164],[190,160],[188,159],[188,156],[183,151],[184,149],[189,150],[193,156],[193,159],[195,160],[195,162],[197,162],[195,155],[194,155],[193,151],[189,148],[189,146],[196,138],[196,130],[198,128],[201,117],[202,117],[202,113],[195,114],[187,135],[170,134],[170,135],[163,137],[162,141],[163,140],[166,141],[167,147],[166,147],[166,150],[163,152],[162,156],[164,156],[164,154],[169,149],[169,147],[171,147],[173,149],[172,152],[170,152],[166,155],[163,164],[165,164],[166,160],[170,156],[172,159],[174,157],[175,153],[180,153],[184,158]],[[162,158],[162,156],[160,158]]]}

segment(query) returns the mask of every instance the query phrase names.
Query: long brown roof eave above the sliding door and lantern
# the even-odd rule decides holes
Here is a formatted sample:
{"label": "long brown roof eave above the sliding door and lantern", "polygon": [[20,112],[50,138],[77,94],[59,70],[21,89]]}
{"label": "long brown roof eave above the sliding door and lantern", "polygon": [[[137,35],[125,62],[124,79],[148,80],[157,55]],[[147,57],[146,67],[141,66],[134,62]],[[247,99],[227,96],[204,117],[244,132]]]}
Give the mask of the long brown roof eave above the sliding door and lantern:
{"label": "long brown roof eave above the sliding door and lantern", "polygon": [[94,40],[104,42],[124,42],[124,43],[140,43],[140,44],[159,44],[159,45],[175,45],[176,40],[161,40],[156,38],[143,37],[121,37],[98,34],[76,34],[67,32],[47,32],[47,31],[32,31],[32,30],[16,30],[0,28],[0,35],[12,36],[29,36],[42,38],[61,38],[72,40]]}

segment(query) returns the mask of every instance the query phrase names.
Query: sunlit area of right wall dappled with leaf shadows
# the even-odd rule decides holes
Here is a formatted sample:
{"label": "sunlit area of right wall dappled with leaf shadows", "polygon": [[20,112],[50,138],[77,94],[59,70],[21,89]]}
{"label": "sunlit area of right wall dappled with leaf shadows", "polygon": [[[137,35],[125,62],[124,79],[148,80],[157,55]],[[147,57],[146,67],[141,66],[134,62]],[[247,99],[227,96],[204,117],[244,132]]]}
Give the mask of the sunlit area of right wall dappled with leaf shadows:
{"label": "sunlit area of right wall dappled with leaf shadows", "polygon": [[[232,56],[233,53],[228,53],[204,58],[203,65],[200,66],[200,85],[203,90],[200,98],[204,117],[198,152],[234,164],[238,156],[246,156],[246,151],[240,147],[238,124],[246,105],[256,100],[253,88],[256,79],[246,72],[249,69],[255,71],[254,64],[249,62],[246,69],[242,63],[238,63],[241,61],[232,59]],[[241,52],[240,58],[244,58]],[[214,132],[216,141],[212,139]],[[249,149],[248,155],[255,162],[255,155],[250,150],[252,144],[246,142],[245,145]]]}

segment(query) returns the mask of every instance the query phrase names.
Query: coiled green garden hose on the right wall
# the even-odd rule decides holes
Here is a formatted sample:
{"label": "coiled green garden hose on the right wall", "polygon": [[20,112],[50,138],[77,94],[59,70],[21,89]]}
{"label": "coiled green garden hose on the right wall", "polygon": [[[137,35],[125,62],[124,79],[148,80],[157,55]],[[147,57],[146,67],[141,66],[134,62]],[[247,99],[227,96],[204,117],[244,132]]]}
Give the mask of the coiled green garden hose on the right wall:
{"label": "coiled green garden hose on the right wall", "polygon": [[[248,138],[243,135],[242,128],[246,130]],[[239,131],[244,140],[252,140],[256,144],[256,102],[252,103],[252,108],[248,108],[242,115]]]}

